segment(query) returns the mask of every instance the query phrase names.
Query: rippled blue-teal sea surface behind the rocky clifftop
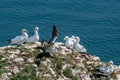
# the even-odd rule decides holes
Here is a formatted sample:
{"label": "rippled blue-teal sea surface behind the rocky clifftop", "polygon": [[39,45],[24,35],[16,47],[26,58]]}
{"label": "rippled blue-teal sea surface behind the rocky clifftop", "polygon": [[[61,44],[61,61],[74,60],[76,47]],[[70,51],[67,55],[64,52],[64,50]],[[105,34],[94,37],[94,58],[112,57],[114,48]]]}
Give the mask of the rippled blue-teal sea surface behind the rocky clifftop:
{"label": "rippled blue-teal sea surface behind the rocky clifftop", "polygon": [[52,25],[65,36],[79,36],[80,44],[101,61],[120,65],[120,0],[0,0],[0,46],[39,27],[40,41],[51,37]]}

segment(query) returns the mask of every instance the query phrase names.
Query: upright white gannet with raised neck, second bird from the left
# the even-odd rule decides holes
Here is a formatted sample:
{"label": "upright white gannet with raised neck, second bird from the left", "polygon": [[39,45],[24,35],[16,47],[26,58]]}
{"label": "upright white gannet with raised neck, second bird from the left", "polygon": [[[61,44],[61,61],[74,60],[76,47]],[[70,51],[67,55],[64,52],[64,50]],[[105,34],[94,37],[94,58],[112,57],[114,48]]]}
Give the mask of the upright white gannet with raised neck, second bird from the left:
{"label": "upright white gannet with raised neck, second bird from the left", "polygon": [[39,28],[35,27],[34,28],[34,33],[35,34],[33,36],[29,37],[27,42],[33,42],[33,43],[38,42],[39,41],[39,33],[38,33],[38,31],[39,31]]}

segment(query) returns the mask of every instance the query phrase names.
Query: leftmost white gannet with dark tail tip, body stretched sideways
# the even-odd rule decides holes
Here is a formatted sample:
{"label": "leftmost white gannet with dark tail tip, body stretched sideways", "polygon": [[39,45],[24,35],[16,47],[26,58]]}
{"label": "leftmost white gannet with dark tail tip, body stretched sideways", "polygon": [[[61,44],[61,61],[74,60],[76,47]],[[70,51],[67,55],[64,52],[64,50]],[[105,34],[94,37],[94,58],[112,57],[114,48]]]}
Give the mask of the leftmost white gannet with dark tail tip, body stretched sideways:
{"label": "leftmost white gannet with dark tail tip, body stretched sideways", "polygon": [[23,43],[25,43],[28,39],[28,34],[27,34],[27,30],[26,29],[22,29],[22,35],[20,36],[16,36],[13,39],[7,40],[8,43],[7,44],[18,44],[21,45]]}

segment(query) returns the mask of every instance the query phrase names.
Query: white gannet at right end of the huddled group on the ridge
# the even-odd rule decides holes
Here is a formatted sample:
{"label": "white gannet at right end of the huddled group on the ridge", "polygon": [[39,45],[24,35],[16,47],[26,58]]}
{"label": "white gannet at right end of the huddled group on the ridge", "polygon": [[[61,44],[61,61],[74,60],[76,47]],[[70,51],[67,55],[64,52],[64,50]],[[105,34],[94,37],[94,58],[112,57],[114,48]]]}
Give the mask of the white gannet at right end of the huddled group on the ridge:
{"label": "white gannet at right end of the huddled group on the ridge", "polygon": [[76,39],[75,50],[77,50],[78,52],[87,52],[85,47],[83,45],[79,44],[80,38],[79,37],[75,37],[75,39]]}

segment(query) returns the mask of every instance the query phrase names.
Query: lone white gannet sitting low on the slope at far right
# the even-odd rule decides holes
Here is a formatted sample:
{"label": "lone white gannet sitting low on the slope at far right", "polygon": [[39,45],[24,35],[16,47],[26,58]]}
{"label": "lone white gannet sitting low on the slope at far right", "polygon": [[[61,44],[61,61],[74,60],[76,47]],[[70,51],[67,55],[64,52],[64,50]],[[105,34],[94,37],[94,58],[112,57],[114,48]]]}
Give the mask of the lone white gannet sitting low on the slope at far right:
{"label": "lone white gannet sitting low on the slope at far right", "polygon": [[103,73],[112,73],[114,71],[113,61],[109,61],[109,66],[101,67],[100,71]]}

